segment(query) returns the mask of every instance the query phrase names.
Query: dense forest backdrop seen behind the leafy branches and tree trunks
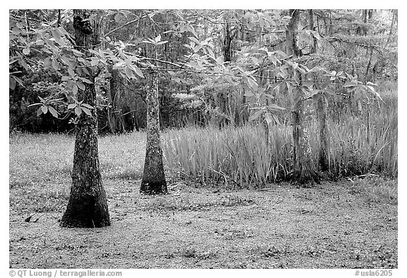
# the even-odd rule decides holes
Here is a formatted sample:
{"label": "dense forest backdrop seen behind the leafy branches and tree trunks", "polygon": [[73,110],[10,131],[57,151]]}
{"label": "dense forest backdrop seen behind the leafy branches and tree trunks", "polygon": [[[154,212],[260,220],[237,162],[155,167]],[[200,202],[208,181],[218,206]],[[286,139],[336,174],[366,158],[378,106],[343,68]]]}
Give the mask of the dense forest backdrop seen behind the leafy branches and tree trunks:
{"label": "dense forest backdrop seen behind the leafy branches and tree trunks", "polygon": [[[72,32],[71,11],[26,10],[11,12],[11,18],[23,18],[27,28],[41,28],[42,23],[57,24]],[[172,63],[182,64],[193,59],[194,53],[208,52],[214,59],[233,66],[251,66],[256,69],[257,83],[281,107],[289,107],[283,88],[273,86],[269,78],[276,74],[260,58],[247,55],[283,49],[288,11],[100,11],[101,44],[126,45],[125,52],[152,57],[148,37],[162,34],[167,43],[160,47],[159,59],[165,74],[160,75],[160,123],[163,128],[181,128],[189,125],[232,124],[242,126],[251,115],[252,99],[247,96],[244,83],[232,83],[227,76],[208,75],[202,78],[185,71],[177,74]],[[328,68],[331,71],[357,75],[363,82],[378,83],[380,89],[396,86],[397,81],[397,11],[392,10],[314,10],[313,29],[309,29],[308,11],[300,14],[300,51],[305,64]],[[151,18],[154,18],[152,21]],[[57,22],[58,21],[58,22]],[[16,24],[16,23],[11,23]],[[273,30],[271,30],[273,29]],[[24,28],[11,25],[10,56],[12,77],[10,88],[10,130],[47,132],[71,131],[73,114],[63,104],[54,108],[61,114],[55,119],[49,114],[37,116],[38,96],[64,95],[70,90],[55,68],[64,64],[64,54],[47,59],[37,37],[25,34]],[[55,34],[57,35],[57,34]],[[57,35],[58,36],[58,35]],[[17,38],[18,37],[18,38]],[[52,38],[49,38],[53,40]],[[199,41],[198,41],[199,40]],[[15,42],[16,41],[16,42]],[[18,43],[24,42],[25,49]],[[54,40],[59,47],[58,40]],[[202,42],[206,42],[203,44]],[[315,48],[317,51],[315,51]],[[29,51],[29,50],[27,50]],[[21,59],[28,58],[28,61]],[[59,59],[58,59],[59,58]],[[201,62],[202,63],[202,62]],[[41,64],[41,65],[40,65]],[[61,67],[61,66],[59,66]],[[226,82],[225,82],[226,81]],[[98,75],[98,127],[100,133],[120,133],[146,127],[146,80],[126,80],[125,76],[105,67]],[[251,89],[249,87],[249,89]],[[333,88],[334,89],[334,88]],[[336,89],[336,88],[335,88]],[[365,110],[365,99],[352,99],[346,88],[337,88],[330,97],[330,118],[360,114]],[[367,107],[367,105],[365,105]],[[278,115],[282,122],[290,116]]]}

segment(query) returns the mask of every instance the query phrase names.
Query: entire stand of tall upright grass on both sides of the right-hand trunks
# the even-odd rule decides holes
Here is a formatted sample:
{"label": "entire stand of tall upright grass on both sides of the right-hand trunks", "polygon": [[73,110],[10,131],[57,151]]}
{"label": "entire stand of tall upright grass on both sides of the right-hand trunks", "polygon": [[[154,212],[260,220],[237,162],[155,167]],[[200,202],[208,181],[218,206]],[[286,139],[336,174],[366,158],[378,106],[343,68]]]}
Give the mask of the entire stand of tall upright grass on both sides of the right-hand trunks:
{"label": "entire stand of tall upright grass on both sides of the right-hand trunks", "polygon": [[[329,172],[334,176],[382,173],[397,176],[396,91],[383,94],[384,102],[367,107],[359,115],[329,120]],[[309,121],[312,163],[317,167],[319,133]],[[293,171],[290,125],[189,127],[163,135],[163,151],[172,175],[208,181],[264,184],[290,178]],[[317,167],[318,168],[318,167]]]}

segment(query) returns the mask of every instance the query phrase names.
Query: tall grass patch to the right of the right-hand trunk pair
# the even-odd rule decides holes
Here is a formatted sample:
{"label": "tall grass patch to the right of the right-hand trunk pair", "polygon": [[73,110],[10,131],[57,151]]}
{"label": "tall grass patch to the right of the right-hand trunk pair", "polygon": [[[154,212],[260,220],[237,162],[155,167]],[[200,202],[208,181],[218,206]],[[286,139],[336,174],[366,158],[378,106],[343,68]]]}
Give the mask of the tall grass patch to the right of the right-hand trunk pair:
{"label": "tall grass patch to the right of the right-hand trunk pair", "polygon": [[331,171],[343,176],[371,172],[397,176],[397,134],[396,109],[372,115],[369,125],[358,118],[331,125]]}

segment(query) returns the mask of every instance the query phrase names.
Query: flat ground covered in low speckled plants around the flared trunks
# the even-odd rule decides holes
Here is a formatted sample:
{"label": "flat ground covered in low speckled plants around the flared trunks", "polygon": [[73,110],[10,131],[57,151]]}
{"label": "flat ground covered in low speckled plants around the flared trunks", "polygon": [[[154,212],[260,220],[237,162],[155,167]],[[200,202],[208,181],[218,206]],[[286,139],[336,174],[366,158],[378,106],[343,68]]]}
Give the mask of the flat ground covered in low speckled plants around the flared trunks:
{"label": "flat ground covered in low speckled plants around the flared trunks", "polygon": [[398,267],[396,180],[238,191],[169,181],[169,195],[144,196],[144,146],[143,133],[100,138],[112,226],[66,229],[73,138],[13,135],[10,267]]}

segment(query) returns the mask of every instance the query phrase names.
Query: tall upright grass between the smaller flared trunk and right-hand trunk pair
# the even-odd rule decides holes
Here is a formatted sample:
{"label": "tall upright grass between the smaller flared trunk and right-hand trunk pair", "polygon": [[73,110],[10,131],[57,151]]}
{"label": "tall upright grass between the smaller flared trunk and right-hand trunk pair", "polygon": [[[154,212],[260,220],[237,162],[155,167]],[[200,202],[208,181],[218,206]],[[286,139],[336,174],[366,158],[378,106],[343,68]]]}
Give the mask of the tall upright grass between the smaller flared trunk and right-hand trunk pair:
{"label": "tall upright grass between the smaller flared trunk and right-hand trunk pair", "polygon": [[290,172],[290,128],[272,131],[266,146],[264,128],[184,128],[164,134],[163,150],[173,174],[208,182],[226,181],[241,186],[285,176]]}

